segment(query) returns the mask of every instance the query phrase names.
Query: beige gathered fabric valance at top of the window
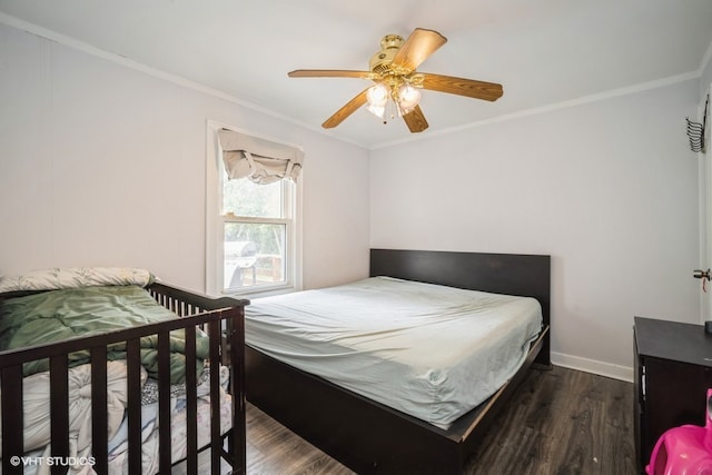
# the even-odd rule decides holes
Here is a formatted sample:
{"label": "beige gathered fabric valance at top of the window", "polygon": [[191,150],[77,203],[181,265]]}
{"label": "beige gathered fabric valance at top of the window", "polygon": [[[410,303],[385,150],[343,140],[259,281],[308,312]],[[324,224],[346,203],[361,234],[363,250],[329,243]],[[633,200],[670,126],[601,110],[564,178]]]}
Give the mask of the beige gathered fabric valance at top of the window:
{"label": "beige gathered fabric valance at top of the window", "polygon": [[230,179],[247,177],[267,185],[281,179],[296,181],[301,171],[304,152],[298,148],[227,129],[219,130],[218,137]]}

